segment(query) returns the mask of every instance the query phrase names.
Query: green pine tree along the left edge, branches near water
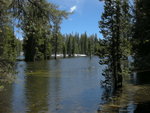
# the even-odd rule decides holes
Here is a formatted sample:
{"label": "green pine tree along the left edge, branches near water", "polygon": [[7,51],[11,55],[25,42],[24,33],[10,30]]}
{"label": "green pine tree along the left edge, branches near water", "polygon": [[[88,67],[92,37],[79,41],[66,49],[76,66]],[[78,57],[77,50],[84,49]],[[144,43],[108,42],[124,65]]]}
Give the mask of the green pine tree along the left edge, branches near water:
{"label": "green pine tree along the left edge, branches near water", "polygon": [[9,5],[10,1],[0,1],[0,90],[4,83],[12,81],[16,59],[16,37]]}

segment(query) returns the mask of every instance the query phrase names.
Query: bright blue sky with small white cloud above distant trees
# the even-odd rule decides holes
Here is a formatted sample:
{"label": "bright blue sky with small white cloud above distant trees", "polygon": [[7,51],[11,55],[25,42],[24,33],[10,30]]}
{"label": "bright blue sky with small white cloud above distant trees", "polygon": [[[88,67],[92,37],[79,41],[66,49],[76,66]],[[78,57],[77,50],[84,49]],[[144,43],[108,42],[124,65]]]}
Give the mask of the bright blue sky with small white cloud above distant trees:
{"label": "bright blue sky with small white cloud above distant trees", "polygon": [[96,33],[98,37],[102,37],[98,21],[103,12],[103,2],[99,0],[49,0],[49,2],[55,3],[62,10],[74,12],[67,20],[63,20],[61,24],[63,34],[87,32],[88,35]]}

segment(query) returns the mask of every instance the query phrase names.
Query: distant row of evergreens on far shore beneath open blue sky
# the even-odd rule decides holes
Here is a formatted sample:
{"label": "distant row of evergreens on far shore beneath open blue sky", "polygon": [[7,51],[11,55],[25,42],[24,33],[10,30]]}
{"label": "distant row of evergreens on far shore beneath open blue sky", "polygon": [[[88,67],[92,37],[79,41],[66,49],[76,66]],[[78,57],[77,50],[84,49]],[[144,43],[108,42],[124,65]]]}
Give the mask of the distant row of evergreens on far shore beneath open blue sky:
{"label": "distant row of evergreens on far shore beneath open blue sky", "polygon": [[74,56],[74,54],[86,54],[88,56],[97,55],[99,50],[99,39],[97,35],[87,36],[86,33],[79,35],[68,34],[59,37],[58,45],[53,40],[51,41],[52,53],[63,53],[64,57]]}

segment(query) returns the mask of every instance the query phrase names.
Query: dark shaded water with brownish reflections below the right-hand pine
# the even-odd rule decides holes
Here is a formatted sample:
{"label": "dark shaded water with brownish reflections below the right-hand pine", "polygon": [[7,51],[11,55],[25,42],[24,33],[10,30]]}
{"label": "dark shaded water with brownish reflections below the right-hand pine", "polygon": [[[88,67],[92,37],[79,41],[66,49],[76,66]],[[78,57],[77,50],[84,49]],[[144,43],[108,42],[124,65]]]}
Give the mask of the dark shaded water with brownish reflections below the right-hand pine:
{"label": "dark shaded water with brownish reflections below the right-hand pine", "polygon": [[124,83],[123,88],[115,93],[104,90],[98,113],[149,113],[149,74],[134,73],[130,82]]}

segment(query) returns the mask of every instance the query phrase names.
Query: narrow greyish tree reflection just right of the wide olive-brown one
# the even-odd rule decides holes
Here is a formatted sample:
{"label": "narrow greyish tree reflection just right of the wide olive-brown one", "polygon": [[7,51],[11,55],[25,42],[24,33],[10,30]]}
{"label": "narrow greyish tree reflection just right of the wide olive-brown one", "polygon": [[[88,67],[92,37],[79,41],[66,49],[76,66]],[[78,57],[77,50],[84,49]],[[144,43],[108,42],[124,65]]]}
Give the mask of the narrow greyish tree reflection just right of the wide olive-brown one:
{"label": "narrow greyish tree reflection just right of the wide olive-brown one", "polygon": [[58,112],[62,109],[61,105],[61,61],[53,60],[50,62],[49,74],[52,76],[49,80],[49,110]]}

